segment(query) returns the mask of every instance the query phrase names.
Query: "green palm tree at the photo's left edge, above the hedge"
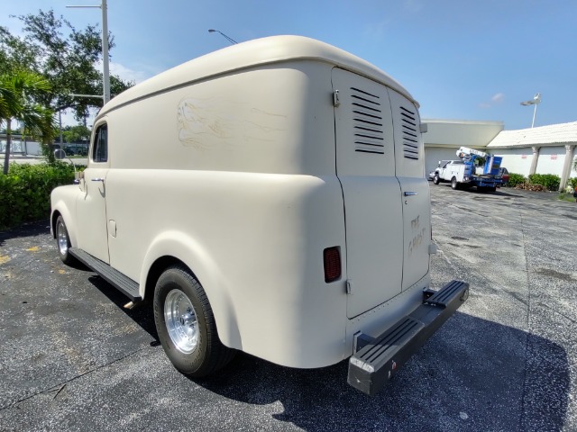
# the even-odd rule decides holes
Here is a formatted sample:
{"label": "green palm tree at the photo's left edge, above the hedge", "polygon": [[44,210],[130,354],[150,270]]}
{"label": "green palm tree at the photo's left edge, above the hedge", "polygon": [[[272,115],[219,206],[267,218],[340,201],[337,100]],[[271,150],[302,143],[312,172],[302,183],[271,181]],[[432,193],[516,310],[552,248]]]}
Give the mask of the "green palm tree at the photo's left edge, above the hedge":
{"label": "green palm tree at the photo's left edge, above the hedge", "polygon": [[4,174],[8,174],[10,147],[12,144],[12,121],[21,121],[37,136],[52,134],[52,121],[48,126],[47,116],[51,112],[39,103],[34,96],[50,90],[50,84],[42,76],[19,70],[12,75],[0,76],[0,125],[6,123],[6,148]]}

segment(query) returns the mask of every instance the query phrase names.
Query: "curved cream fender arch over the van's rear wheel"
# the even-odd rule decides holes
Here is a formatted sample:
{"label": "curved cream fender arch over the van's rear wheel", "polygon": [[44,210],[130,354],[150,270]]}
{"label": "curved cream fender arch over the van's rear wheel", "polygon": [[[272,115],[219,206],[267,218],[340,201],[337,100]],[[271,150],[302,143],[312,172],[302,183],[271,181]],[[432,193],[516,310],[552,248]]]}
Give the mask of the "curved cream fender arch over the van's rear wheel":
{"label": "curved cream fender arch over the van's rear wheel", "polygon": [[205,290],[215,315],[216,328],[221,342],[226,347],[242,349],[236,313],[228,293],[228,287],[231,284],[224,279],[224,275],[215,261],[208,255],[206,249],[184,232],[165,231],[152,240],[142,263],[140,275],[142,298],[145,295],[144,291],[151,266],[161,257],[174,257],[188,266]]}

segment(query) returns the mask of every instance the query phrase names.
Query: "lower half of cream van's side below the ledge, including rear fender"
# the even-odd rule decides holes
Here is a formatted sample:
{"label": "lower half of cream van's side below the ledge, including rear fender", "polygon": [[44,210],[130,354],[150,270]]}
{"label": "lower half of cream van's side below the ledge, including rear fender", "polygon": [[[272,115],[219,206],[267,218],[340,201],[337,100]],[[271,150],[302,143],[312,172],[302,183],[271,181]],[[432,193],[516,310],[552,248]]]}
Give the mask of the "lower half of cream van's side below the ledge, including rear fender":
{"label": "lower half of cream van's side below the ledge, including rear fender", "polygon": [[112,266],[142,286],[142,262],[168,251],[151,245],[182,233],[190,253],[171,255],[197,274],[225,345],[298,367],[343,358],[345,287],[323,270],[324,248],[344,245],[334,176],[111,170],[107,183]]}

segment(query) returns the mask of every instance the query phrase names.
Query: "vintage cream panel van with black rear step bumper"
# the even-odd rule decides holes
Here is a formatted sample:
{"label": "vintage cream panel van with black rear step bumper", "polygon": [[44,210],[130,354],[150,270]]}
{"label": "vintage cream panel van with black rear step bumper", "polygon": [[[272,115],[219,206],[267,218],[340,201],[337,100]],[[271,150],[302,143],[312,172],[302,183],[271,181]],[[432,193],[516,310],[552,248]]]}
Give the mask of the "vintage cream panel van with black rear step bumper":
{"label": "vintage cream panel van with black rear step bumper", "polygon": [[418,104],[317,40],[252,40],[114,97],[79,184],[51,195],[64,263],[133,302],[203,376],[243,350],[314,368],[349,359],[374,394],[468,295],[429,289]]}

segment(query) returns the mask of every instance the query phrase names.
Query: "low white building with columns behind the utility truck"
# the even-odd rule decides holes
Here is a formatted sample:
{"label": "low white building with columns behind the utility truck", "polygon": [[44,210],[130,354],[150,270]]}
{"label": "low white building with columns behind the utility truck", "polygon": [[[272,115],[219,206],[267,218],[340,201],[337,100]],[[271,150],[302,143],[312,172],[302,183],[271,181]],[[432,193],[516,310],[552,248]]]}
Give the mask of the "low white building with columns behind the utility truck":
{"label": "low white building with columns behind the utility truck", "polygon": [[503,130],[502,121],[423,120],[426,173],[439,160],[456,158],[457,148],[478,148],[502,156],[502,166],[521,175],[555,174],[564,188],[577,176],[572,162],[577,147],[577,121],[533,129]]}

